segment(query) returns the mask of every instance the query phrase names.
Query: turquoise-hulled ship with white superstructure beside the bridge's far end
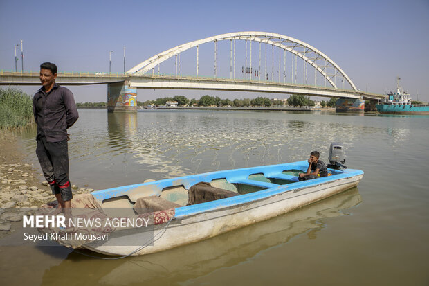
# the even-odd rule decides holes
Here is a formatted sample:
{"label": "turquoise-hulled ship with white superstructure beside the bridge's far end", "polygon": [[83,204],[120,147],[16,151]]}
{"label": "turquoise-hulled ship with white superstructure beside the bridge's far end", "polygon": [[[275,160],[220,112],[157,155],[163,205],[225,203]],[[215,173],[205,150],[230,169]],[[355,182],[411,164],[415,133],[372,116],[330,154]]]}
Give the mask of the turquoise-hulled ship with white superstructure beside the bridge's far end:
{"label": "turquoise-hulled ship with white superstructure beside the bridge's far end", "polygon": [[388,98],[381,100],[376,109],[380,114],[429,115],[429,105],[413,105],[410,93],[403,91],[396,79],[396,93],[388,93]]}

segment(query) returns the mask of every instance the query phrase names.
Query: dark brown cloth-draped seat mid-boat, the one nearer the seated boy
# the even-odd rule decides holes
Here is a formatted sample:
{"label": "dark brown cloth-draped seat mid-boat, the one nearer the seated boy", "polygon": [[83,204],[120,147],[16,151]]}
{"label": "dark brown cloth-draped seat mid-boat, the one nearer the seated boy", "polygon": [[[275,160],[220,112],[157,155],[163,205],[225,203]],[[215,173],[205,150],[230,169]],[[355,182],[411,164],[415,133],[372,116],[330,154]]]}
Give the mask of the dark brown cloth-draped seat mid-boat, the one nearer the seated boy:
{"label": "dark brown cloth-draped seat mid-boat, the one nearer the seated boy", "polygon": [[231,190],[213,187],[210,183],[202,181],[190,187],[188,192],[188,205],[211,202],[217,199],[225,199],[226,197],[234,197],[237,195],[240,194],[232,192]]}

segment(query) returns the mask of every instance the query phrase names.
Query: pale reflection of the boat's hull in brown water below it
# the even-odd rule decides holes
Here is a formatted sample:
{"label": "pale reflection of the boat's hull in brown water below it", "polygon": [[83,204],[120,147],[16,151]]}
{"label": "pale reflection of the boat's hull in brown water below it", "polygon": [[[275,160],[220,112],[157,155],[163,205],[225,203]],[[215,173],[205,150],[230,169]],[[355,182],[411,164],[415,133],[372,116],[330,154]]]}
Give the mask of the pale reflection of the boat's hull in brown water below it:
{"label": "pale reflection of the boat's hull in brown water below it", "polygon": [[[287,243],[298,235],[306,234],[307,238],[315,239],[318,231],[325,229],[327,217],[347,215],[347,209],[360,202],[358,189],[353,188],[272,220],[147,256],[107,262],[73,252],[60,265],[46,270],[43,284],[60,278],[64,285],[169,285],[185,282],[221,267],[239,265],[255,258],[260,251]],[[94,271],[95,268],[98,270]]]}

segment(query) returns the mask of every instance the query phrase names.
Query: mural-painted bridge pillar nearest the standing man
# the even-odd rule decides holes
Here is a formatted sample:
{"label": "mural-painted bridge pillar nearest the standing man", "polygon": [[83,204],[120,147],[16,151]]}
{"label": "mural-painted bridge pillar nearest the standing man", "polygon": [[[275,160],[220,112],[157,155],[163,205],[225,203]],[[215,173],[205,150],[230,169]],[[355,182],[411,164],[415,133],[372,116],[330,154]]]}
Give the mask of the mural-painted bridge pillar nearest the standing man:
{"label": "mural-painted bridge pillar nearest the standing man", "polygon": [[137,89],[129,87],[129,82],[107,84],[107,110],[109,112],[136,112]]}

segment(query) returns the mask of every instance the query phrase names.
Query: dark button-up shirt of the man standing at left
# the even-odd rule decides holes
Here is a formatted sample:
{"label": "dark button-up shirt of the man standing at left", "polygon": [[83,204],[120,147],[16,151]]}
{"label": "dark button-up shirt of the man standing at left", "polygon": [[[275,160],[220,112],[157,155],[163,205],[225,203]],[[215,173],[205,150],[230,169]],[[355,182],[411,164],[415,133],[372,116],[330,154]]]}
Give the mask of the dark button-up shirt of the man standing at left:
{"label": "dark button-up shirt of the man standing at left", "polygon": [[36,138],[45,136],[47,142],[63,141],[67,139],[67,128],[79,118],[73,93],[56,83],[48,93],[44,90],[44,87],[39,89],[33,98]]}

